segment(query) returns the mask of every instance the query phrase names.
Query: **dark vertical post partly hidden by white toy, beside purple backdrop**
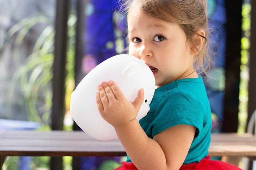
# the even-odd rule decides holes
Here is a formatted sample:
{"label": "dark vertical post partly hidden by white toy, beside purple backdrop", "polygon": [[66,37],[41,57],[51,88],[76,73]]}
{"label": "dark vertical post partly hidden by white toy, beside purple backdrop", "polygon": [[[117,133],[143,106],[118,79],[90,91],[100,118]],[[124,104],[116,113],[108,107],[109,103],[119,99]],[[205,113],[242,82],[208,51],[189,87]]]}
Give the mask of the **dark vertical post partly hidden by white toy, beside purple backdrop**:
{"label": "dark vertical post partly hidden by white toy, beside purple backdrop", "polygon": [[[77,24],[76,24],[76,57],[75,57],[75,86],[79,84],[79,82],[82,80],[84,77],[82,73],[82,59],[84,56],[84,32],[85,32],[85,16],[84,16],[84,11],[85,11],[85,5],[86,5],[87,0],[77,0]],[[74,130],[81,130],[79,126],[74,122],[73,125]],[[80,168],[81,161],[80,157],[73,157],[73,169],[81,169]]]}

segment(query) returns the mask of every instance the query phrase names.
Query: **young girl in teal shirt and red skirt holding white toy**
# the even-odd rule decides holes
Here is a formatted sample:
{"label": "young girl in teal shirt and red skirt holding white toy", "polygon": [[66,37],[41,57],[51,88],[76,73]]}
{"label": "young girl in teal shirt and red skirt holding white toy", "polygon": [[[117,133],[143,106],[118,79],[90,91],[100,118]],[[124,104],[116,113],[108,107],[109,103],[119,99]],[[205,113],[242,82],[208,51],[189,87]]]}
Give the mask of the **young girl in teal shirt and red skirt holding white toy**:
{"label": "young girl in teal shirt and red skirt holding white toy", "polygon": [[211,109],[196,72],[207,73],[212,61],[205,0],[128,0],[125,6],[129,54],[150,67],[158,88],[150,111],[138,121],[143,89],[129,102],[115,82],[98,86],[100,114],[127,153],[117,170],[240,169],[207,156]]}

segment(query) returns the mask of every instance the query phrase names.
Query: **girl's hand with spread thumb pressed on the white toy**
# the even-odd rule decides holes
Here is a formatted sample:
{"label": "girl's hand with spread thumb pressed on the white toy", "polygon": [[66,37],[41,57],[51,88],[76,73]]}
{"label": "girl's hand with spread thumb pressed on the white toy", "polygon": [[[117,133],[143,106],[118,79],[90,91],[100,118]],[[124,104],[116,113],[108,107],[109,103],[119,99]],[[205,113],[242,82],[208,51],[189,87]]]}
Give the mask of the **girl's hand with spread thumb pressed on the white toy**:
{"label": "girl's hand with spread thumb pressed on the white toy", "polygon": [[114,81],[102,82],[96,93],[100,115],[112,126],[117,127],[136,119],[144,101],[144,89],[140,89],[133,102],[129,102]]}

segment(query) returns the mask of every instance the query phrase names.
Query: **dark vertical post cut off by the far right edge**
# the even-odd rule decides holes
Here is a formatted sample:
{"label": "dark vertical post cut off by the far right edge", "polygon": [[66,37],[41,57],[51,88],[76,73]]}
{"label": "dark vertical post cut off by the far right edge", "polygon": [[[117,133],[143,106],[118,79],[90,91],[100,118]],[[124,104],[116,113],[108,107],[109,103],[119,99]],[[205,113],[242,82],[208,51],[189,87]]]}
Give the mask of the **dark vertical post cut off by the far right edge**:
{"label": "dark vertical post cut off by the far right edge", "polygon": [[[251,1],[251,48],[250,48],[250,80],[248,90],[248,119],[252,116],[252,112],[256,109],[256,1]],[[255,133],[255,132],[254,132]]]}

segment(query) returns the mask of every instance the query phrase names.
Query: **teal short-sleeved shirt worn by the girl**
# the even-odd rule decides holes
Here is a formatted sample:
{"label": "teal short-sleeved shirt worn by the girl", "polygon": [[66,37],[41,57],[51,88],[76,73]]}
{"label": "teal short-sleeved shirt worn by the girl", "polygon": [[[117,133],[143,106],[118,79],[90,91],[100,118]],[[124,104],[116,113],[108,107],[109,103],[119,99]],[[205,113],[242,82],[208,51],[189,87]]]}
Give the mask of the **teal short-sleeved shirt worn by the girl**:
{"label": "teal short-sleeved shirt worn by the girl", "polygon": [[[212,117],[209,100],[201,76],[172,81],[155,90],[148,114],[140,126],[153,137],[178,124],[196,127],[196,134],[184,164],[199,162],[208,155],[211,142]],[[127,162],[131,162],[127,155]]]}

